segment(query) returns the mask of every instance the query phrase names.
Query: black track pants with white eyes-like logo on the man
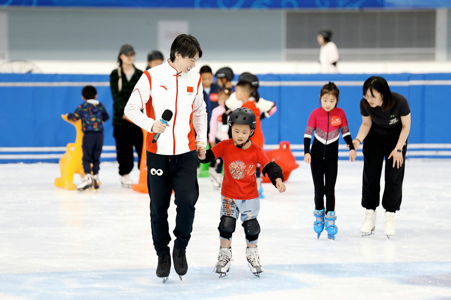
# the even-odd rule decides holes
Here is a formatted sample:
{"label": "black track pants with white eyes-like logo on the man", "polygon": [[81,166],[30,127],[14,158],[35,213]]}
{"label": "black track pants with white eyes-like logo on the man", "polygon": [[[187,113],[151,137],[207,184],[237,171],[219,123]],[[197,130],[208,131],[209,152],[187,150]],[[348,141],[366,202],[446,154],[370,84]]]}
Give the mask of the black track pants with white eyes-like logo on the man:
{"label": "black track pants with white eyes-like logo on the man", "polygon": [[150,196],[150,224],[157,255],[169,252],[169,208],[174,189],[176,217],[174,244],[185,248],[191,237],[194,204],[199,196],[197,184],[197,153],[159,155],[147,151],[147,185]]}

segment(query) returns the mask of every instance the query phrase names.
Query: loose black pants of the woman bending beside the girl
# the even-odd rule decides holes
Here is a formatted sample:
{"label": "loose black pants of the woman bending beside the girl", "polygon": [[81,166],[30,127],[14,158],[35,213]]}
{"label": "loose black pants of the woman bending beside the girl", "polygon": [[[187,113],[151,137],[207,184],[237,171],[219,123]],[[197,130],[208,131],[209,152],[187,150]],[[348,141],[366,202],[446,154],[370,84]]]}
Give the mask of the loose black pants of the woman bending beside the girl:
{"label": "loose black pants of the woman bending beside the girl", "polygon": [[382,207],[387,211],[399,210],[402,199],[402,181],[404,179],[405,153],[407,141],[402,147],[403,163],[400,168],[393,167],[393,158],[387,159],[396,147],[399,134],[382,135],[371,131],[363,142],[363,186],[362,206],[376,209],[379,206],[380,176],[385,159],[385,187]]}

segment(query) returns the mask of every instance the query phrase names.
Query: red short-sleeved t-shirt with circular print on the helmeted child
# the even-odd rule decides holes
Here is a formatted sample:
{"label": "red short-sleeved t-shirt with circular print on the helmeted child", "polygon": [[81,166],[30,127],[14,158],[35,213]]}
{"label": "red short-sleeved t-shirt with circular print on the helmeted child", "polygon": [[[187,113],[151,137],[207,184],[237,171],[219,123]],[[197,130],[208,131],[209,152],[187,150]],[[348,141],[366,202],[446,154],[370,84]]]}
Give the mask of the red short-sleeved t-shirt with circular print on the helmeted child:
{"label": "red short-sleeved t-shirt with circular print on the helmeted child", "polygon": [[265,151],[254,142],[249,148],[240,149],[232,138],[218,142],[211,150],[215,158],[221,156],[224,161],[221,194],[240,200],[258,198],[255,170],[257,162],[262,166],[270,162]]}

